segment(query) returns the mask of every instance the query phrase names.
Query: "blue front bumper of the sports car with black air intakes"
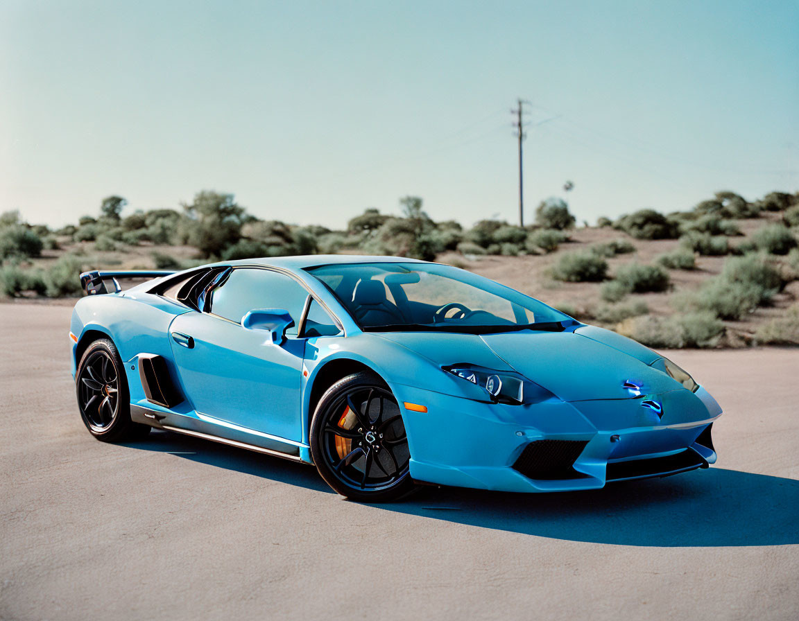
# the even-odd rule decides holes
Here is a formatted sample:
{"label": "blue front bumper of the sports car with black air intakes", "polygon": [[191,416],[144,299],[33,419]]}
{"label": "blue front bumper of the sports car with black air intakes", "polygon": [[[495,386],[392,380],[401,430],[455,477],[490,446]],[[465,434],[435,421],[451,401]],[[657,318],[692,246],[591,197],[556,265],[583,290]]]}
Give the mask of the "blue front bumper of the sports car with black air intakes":
{"label": "blue front bumper of the sports car with black air intakes", "polygon": [[[608,481],[659,477],[707,467],[716,461],[710,425],[721,409],[700,388],[650,395],[662,402],[662,419],[641,400],[551,400],[497,405],[414,386],[392,386],[403,409],[411,451],[411,477],[439,485],[507,492],[556,492],[602,488]],[[525,449],[550,443],[568,467],[523,467]],[[557,443],[560,443],[559,445]],[[575,450],[576,447],[576,450]],[[555,457],[539,455],[546,465]],[[521,471],[520,471],[521,470]]]}

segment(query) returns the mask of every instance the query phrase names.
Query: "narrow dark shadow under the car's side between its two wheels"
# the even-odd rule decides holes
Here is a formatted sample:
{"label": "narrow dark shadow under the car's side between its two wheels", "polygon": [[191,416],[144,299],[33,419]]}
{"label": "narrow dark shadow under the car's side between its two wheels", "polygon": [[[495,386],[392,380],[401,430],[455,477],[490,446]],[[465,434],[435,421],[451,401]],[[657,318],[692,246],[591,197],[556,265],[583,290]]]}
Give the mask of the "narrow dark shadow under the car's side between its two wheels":
{"label": "narrow dark shadow under the car's side between its two wheels", "polygon": [[235,470],[254,477],[263,477],[271,481],[314,489],[317,492],[336,493],[328,487],[312,466],[297,464],[271,455],[252,453],[245,449],[237,449],[233,446],[185,436],[181,433],[153,429],[147,439],[126,442],[124,445],[131,449],[171,453],[176,457],[200,464]]}

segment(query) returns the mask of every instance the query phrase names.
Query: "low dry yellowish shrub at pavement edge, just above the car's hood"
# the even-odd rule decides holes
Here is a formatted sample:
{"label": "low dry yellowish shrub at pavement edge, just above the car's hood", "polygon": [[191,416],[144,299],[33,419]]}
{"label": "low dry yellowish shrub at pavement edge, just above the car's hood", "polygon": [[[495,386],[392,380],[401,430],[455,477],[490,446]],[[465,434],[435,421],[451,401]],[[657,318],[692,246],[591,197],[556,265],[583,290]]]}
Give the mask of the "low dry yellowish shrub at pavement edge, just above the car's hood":
{"label": "low dry yellowish shrub at pavement edge, just above the car's hood", "polygon": [[715,347],[724,334],[724,324],[712,313],[642,315],[622,321],[615,330],[650,347]]}

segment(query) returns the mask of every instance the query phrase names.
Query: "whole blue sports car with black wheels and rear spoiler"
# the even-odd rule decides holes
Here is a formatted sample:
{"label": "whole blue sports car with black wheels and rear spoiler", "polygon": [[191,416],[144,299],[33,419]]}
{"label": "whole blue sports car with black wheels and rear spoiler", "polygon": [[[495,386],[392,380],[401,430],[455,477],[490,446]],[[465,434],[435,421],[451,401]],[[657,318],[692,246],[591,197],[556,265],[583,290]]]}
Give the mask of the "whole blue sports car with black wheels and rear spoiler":
{"label": "whole blue sports car with black wheels and rear spoiler", "polygon": [[81,281],[72,370],[99,440],[186,433],[316,465],[367,502],[716,461],[721,408],[674,362],[455,267],[316,255]]}

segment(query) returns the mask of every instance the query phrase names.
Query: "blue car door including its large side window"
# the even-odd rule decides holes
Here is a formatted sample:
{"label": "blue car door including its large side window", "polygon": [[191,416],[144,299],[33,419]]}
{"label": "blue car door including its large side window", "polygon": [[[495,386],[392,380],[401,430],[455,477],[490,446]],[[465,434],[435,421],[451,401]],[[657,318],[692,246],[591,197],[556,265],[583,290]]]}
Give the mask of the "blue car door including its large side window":
{"label": "blue car door including its large side window", "polygon": [[[297,338],[297,324],[308,291],[278,271],[237,267],[209,295],[207,312],[185,313],[169,330],[177,373],[194,409],[222,424],[301,441],[304,340]],[[294,319],[281,344],[264,330],[241,326],[244,314],[264,308],[288,310]]]}

